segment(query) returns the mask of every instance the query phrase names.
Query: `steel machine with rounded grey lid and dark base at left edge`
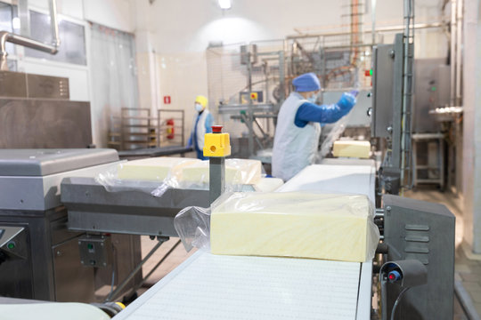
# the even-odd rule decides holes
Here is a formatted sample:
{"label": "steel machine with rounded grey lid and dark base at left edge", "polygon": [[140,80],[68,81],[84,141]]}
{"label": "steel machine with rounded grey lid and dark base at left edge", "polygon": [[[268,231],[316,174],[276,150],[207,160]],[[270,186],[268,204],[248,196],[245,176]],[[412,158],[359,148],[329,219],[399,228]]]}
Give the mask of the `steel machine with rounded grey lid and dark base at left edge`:
{"label": "steel machine with rounded grey lid and dark base at left edge", "polygon": [[135,268],[138,236],[70,232],[61,204],[63,178],[117,163],[111,149],[0,149],[0,295],[93,302]]}

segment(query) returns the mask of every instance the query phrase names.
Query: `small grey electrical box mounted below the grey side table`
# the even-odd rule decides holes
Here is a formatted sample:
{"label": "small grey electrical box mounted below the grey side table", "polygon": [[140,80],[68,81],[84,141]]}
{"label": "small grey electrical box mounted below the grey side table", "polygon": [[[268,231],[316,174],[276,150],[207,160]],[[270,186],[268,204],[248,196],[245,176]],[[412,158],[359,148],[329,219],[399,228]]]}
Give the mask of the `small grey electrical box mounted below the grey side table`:
{"label": "small grey electrical box mounted below the grey side table", "polygon": [[80,263],[86,267],[105,268],[112,261],[113,247],[110,236],[83,236],[78,238]]}

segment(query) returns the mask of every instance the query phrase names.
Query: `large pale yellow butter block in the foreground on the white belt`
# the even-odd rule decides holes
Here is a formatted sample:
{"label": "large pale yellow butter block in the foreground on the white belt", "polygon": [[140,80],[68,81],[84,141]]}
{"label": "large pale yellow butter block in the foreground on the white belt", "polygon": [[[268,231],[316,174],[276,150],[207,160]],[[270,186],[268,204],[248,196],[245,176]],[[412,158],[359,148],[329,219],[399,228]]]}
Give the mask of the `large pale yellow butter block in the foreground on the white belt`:
{"label": "large pale yellow butter block in the foreground on the white belt", "polygon": [[231,193],[213,204],[210,219],[214,254],[363,262],[378,242],[367,196]]}

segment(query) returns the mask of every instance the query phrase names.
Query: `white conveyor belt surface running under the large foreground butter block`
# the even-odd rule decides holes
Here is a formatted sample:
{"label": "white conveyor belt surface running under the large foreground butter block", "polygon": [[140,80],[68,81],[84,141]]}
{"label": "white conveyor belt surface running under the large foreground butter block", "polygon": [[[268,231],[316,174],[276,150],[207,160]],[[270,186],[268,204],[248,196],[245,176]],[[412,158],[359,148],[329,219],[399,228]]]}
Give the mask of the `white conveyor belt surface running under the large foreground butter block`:
{"label": "white conveyor belt surface running under the large foreground butter block", "polygon": [[[374,183],[370,161],[314,164],[279,191],[363,194],[374,202]],[[114,319],[368,320],[371,274],[371,262],[196,252]]]}

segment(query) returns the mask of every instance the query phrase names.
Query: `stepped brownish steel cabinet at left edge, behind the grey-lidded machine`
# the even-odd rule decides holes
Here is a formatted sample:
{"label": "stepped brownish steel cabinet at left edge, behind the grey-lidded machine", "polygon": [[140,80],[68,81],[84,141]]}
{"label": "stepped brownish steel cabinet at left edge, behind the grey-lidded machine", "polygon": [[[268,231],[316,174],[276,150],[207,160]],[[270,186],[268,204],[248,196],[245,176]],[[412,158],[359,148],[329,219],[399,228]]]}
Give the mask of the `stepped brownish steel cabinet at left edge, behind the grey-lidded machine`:
{"label": "stepped brownish steel cabinet at left edge, behind the grey-lidded machine", "polygon": [[0,148],[88,148],[90,103],[69,100],[69,79],[0,71]]}

